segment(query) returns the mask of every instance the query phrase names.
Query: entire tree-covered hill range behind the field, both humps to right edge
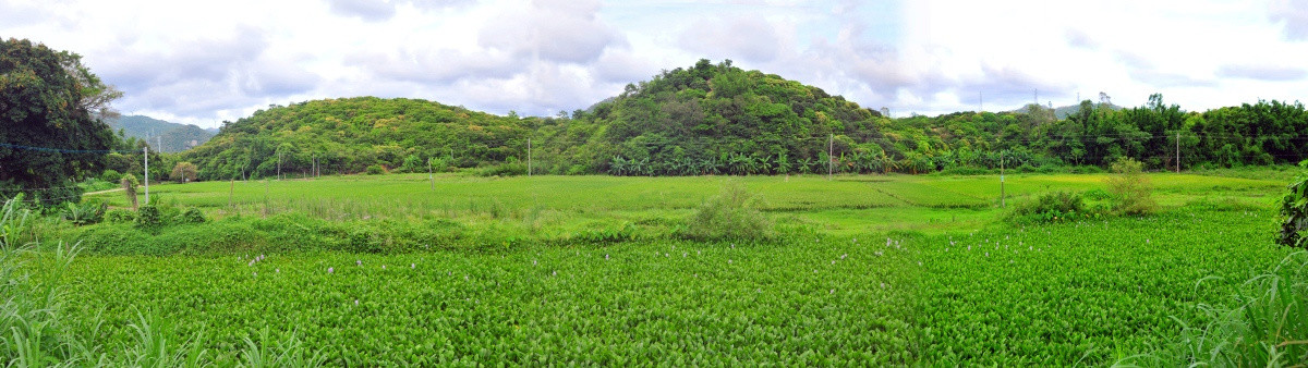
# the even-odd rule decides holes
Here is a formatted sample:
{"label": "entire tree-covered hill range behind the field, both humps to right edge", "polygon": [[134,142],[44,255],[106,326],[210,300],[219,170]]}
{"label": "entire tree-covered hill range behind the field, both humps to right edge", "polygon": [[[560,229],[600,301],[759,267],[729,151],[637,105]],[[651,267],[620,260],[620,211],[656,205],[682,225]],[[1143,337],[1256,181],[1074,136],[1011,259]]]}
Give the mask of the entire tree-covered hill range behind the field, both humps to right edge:
{"label": "entire tree-covered hill range behind the field, both humps to right edge", "polygon": [[[1303,104],[1206,112],[1090,100],[1056,111],[891,119],[780,76],[701,60],[628,85],[587,110],[496,116],[417,99],[349,98],[271,107],[183,153],[201,179],[493,166],[523,174],[702,175],[1056,170],[1121,157],[1148,170],[1295,163],[1308,154]],[[828,153],[832,153],[828,155]]]}

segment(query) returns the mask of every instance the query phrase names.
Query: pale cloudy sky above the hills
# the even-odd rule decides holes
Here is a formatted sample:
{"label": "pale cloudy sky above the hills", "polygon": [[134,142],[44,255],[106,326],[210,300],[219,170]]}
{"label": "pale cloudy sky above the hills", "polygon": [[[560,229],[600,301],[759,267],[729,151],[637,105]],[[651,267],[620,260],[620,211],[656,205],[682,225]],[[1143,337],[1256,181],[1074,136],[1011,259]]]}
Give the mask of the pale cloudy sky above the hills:
{"label": "pale cloudy sky above the hills", "polygon": [[701,57],[896,116],[1308,95],[1308,0],[0,0],[0,38],[84,55],[124,114],[200,127],[356,95],[555,115]]}

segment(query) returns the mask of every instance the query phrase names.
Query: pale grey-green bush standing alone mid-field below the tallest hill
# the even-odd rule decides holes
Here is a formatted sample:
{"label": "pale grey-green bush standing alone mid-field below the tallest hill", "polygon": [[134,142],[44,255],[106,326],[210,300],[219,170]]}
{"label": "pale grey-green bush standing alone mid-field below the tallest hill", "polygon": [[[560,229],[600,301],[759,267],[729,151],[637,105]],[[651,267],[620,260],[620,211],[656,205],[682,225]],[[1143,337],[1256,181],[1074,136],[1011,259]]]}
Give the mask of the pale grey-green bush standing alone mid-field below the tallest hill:
{"label": "pale grey-green bush standing alone mid-field below the tallest hill", "polygon": [[683,236],[696,240],[764,239],[772,236],[772,223],[753,207],[756,198],[739,183],[722,188],[722,194],[700,205]]}

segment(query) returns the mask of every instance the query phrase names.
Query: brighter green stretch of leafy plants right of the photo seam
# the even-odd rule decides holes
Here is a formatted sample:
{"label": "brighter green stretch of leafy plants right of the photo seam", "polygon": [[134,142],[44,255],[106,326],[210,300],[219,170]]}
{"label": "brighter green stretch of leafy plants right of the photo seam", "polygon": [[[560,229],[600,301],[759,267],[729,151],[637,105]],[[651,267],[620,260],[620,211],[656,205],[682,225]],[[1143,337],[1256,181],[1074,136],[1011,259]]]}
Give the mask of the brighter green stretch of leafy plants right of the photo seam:
{"label": "brighter green stretch of leafy plants right of the photo seam", "polygon": [[[1250,270],[1288,253],[1270,241],[1253,241],[1266,232],[1265,223],[1266,218],[1240,211],[1188,207],[1150,218],[909,238],[903,247],[920,252],[922,262],[913,286],[921,333],[916,351],[922,365],[948,367],[1109,365],[1155,351],[1188,334],[1179,321],[1205,324],[1206,305],[1233,301],[1230,295],[1244,287]],[[886,249],[879,243],[872,247]],[[1284,279],[1284,291],[1291,283]],[[1301,305],[1275,307],[1304,321]],[[1260,329],[1274,331],[1274,326]],[[1168,359],[1158,365],[1196,361]],[[1250,365],[1264,367],[1215,367]]]}

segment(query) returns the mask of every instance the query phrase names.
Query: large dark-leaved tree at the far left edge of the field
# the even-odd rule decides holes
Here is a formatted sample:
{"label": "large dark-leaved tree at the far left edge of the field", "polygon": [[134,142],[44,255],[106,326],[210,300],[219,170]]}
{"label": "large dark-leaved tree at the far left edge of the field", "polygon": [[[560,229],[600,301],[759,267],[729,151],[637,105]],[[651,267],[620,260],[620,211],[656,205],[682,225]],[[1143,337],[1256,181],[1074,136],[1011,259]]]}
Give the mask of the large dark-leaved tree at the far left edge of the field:
{"label": "large dark-leaved tree at the far left edge of the field", "polygon": [[44,205],[78,201],[68,181],[105,164],[115,138],[99,117],[119,95],[77,54],[0,42],[0,187],[33,192]]}

